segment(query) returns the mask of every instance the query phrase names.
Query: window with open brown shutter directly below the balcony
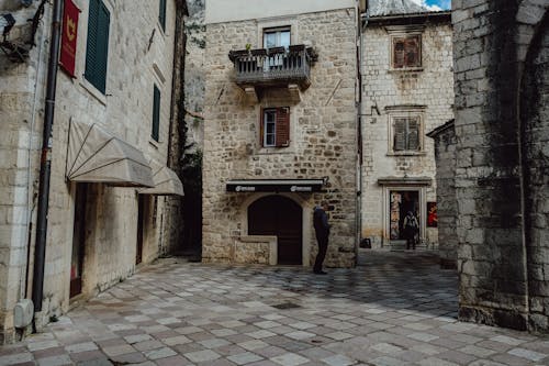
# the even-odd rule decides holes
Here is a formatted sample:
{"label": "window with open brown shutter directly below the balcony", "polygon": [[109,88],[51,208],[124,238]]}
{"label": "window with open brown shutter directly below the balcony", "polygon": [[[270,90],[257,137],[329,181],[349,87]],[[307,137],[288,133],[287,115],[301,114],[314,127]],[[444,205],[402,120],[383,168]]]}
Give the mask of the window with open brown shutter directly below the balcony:
{"label": "window with open brown shutter directly below the balcony", "polygon": [[287,147],[290,145],[290,109],[269,108],[261,113],[261,146]]}

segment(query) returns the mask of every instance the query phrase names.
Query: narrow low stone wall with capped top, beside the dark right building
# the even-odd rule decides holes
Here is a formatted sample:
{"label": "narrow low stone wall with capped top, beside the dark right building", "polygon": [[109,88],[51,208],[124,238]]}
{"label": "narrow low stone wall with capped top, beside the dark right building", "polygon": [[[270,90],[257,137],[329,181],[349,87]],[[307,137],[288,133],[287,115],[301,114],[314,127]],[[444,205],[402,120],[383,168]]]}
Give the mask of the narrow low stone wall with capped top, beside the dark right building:
{"label": "narrow low stone wall with capped top, beside the dark right building", "polygon": [[441,268],[456,268],[458,258],[458,221],[456,204],[456,129],[449,121],[429,133],[435,141],[437,162],[438,254]]}

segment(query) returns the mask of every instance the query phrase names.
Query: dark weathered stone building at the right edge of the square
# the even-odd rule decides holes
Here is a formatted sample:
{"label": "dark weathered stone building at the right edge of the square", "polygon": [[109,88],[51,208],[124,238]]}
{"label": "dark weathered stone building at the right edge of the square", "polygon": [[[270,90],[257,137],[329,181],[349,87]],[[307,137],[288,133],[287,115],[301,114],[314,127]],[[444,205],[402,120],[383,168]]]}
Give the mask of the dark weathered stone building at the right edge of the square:
{"label": "dark weathered stone building at the right edge of the square", "polygon": [[[547,1],[452,1],[459,318],[549,332]],[[447,135],[455,138],[440,138]],[[451,154],[455,151],[455,154]],[[451,179],[450,175],[438,177]]]}

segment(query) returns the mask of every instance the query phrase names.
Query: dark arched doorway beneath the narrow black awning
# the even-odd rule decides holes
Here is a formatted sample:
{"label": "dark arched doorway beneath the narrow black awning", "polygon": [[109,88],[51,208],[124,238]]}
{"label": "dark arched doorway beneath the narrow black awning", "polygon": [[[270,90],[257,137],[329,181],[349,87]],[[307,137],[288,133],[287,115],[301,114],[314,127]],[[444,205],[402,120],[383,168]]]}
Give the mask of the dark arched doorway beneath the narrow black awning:
{"label": "dark arched doorway beneath the narrow black awning", "polygon": [[283,196],[267,196],[248,207],[248,234],[278,237],[278,264],[303,262],[302,209]]}

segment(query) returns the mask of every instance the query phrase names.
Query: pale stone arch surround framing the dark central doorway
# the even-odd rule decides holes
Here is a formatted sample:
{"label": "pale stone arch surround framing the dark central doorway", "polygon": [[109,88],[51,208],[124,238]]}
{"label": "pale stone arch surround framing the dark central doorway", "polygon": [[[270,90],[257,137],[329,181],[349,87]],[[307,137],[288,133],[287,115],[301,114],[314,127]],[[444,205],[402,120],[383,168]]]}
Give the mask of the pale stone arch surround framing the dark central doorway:
{"label": "pale stone arch surround framing the dark central doorway", "polygon": [[260,193],[254,193],[247,197],[240,204],[239,210],[238,210],[238,215],[237,215],[237,222],[238,222],[238,228],[240,230],[240,235],[246,236],[248,235],[248,208],[250,204],[256,202],[257,200],[267,197],[267,196],[282,196],[285,198],[291,199],[295,203],[298,203],[301,209],[302,209],[302,235],[303,235],[303,266],[310,266],[311,265],[311,245],[312,245],[312,239],[314,239],[313,232],[312,232],[312,212],[314,208],[314,202],[312,200],[307,200],[303,198],[300,195],[296,193],[291,193],[291,192],[281,192],[281,193],[272,193],[272,192],[260,192]]}

